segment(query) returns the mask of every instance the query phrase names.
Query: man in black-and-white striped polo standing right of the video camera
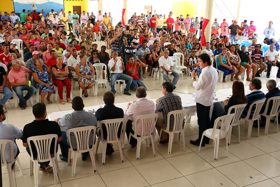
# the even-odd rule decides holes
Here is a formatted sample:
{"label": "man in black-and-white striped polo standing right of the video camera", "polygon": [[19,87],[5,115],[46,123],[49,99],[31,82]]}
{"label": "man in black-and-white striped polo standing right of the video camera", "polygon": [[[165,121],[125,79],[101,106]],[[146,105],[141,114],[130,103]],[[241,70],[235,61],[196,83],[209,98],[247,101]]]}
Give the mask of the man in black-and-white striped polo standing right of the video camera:
{"label": "man in black-and-white striped polo standing right of the video camera", "polygon": [[[133,37],[133,30],[129,30],[130,37],[127,37],[127,45],[125,46],[125,66],[129,64],[128,57],[133,56],[133,58],[136,60],[136,49],[138,48],[138,40],[137,38]],[[141,74],[139,74],[139,79],[143,80]]]}

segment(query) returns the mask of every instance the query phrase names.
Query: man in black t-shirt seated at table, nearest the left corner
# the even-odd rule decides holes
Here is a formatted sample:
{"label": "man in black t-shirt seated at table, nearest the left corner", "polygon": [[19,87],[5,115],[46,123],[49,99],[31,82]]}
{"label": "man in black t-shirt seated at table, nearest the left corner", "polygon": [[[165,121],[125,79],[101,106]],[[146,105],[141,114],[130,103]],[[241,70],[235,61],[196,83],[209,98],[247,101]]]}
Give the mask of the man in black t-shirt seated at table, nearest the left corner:
{"label": "man in black t-shirt seated at table, nearest the left corner", "polygon": [[[26,151],[30,154],[30,148],[27,143],[27,138],[33,137],[33,136],[42,136],[47,134],[57,134],[58,139],[57,142],[62,140],[61,137],[61,130],[57,122],[49,121],[49,119],[46,119],[47,117],[47,111],[46,111],[46,105],[44,103],[37,103],[33,106],[32,112],[34,114],[35,120],[31,123],[28,123],[23,128],[23,135],[22,135],[22,142],[23,146],[26,147]],[[54,139],[51,142],[50,146],[50,155],[51,157],[54,157]],[[37,151],[34,143],[31,141],[31,149],[33,153],[33,157],[37,158]],[[34,145],[34,146],[33,146]],[[56,145],[56,152],[58,150],[58,144]],[[45,171],[45,172],[52,172],[53,168],[49,165],[49,161],[46,162],[38,162],[40,164],[39,170]],[[35,168],[37,169],[37,168]]]}

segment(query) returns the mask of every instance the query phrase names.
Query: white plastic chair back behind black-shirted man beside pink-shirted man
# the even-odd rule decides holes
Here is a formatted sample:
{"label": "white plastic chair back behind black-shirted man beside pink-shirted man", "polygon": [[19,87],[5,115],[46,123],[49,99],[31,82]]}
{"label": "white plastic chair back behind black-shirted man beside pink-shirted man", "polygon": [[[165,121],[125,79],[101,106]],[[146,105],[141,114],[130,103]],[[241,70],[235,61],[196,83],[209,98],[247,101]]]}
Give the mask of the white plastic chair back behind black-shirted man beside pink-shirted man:
{"label": "white plastic chair back behind black-shirted man beside pink-shirted man", "polygon": [[106,131],[107,131],[107,143],[114,143],[118,141],[118,130],[120,127],[120,124],[122,123],[122,129],[121,132],[123,131],[123,126],[124,126],[124,118],[118,118],[118,119],[107,119],[99,122],[99,127],[100,127],[100,132],[101,132],[101,141],[103,141],[103,130],[102,129],[102,123],[105,124]]}

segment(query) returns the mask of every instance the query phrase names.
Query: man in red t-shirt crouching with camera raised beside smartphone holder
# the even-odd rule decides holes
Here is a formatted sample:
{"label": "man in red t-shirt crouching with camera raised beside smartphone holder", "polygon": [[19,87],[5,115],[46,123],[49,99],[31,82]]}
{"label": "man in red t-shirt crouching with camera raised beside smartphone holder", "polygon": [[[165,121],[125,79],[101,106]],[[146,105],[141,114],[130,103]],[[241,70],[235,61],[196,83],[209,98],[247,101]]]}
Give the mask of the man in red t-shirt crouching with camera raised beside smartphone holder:
{"label": "man in red t-shirt crouching with camera raised beside smartphone holder", "polygon": [[[152,19],[152,18],[151,18]],[[136,90],[139,86],[144,87],[146,90],[145,84],[139,79],[138,76],[138,67],[145,67],[146,64],[138,60],[134,60],[133,56],[128,56],[129,64],[126,65],[126,70],[129,76],[132,77],[132,83],[130,85],[130,90]]]}

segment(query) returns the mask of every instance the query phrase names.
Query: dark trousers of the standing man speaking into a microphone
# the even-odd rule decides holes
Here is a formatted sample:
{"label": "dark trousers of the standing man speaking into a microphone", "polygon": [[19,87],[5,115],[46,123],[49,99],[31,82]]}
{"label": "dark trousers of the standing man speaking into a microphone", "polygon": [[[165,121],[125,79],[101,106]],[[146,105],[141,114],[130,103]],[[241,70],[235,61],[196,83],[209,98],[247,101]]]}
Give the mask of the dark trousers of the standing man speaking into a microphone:
{"label": "dark trousers of the standing man speaking into a microphone", "polygon": [[[210,106],[204,106],[200,103],[196,103],[196,111],[199,111],[197,112],[197,124],[199,126],[198,141],[200,141],[203,132],[211,128],[210,117],[209,117]],[[203,138],[202,144],[205,144],[206,139],[207,137]]]}

